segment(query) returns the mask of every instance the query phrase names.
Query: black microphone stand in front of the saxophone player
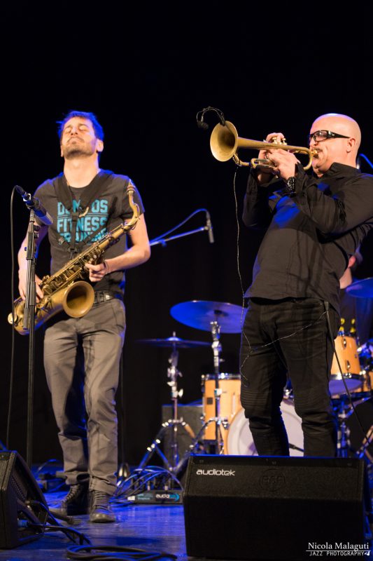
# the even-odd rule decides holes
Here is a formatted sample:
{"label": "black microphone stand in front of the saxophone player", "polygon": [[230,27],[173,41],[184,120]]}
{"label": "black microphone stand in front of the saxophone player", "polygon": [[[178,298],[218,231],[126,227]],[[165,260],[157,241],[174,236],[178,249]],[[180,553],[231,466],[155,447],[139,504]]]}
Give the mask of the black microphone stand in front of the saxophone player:
{"label": "black microphone stand in front of the saxophone player", "polygon": [[27,440],[26,440],[26,463],[31,469],[32,464],[32,431],[34,412],[34,362],[35,362],[35,266],[36,266],[36,243],[38,238],[38,225],[35,224],[34,210],[30,209],[29,227],[27,229],[27,280],[26,301],[24,302],[23,327],[29,330],[29,379],[27,388]]}

